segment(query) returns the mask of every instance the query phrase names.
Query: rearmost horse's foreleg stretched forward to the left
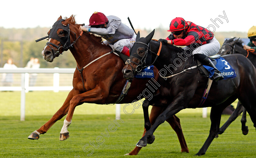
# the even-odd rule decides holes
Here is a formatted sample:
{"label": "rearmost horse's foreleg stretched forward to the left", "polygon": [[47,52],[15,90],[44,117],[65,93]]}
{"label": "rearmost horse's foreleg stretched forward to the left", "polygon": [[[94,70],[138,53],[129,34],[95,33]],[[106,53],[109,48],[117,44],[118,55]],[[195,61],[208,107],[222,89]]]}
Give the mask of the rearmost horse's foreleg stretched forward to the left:
{"label": "rearmost horse's foreleg stretched forward to the left", "polygon": [[[240,102],[237,103],[236,109],[233,111],[233,113],[230,115],[229,119],[224,123],[224,125],[221,126],[219,129],[218,134],[222,134],[228,126],[235,121],[235,119],[243,112],[243,106]],[[242,121],[242,120],[241,120]],[[242,123],[243,125],[243,123]]]}

